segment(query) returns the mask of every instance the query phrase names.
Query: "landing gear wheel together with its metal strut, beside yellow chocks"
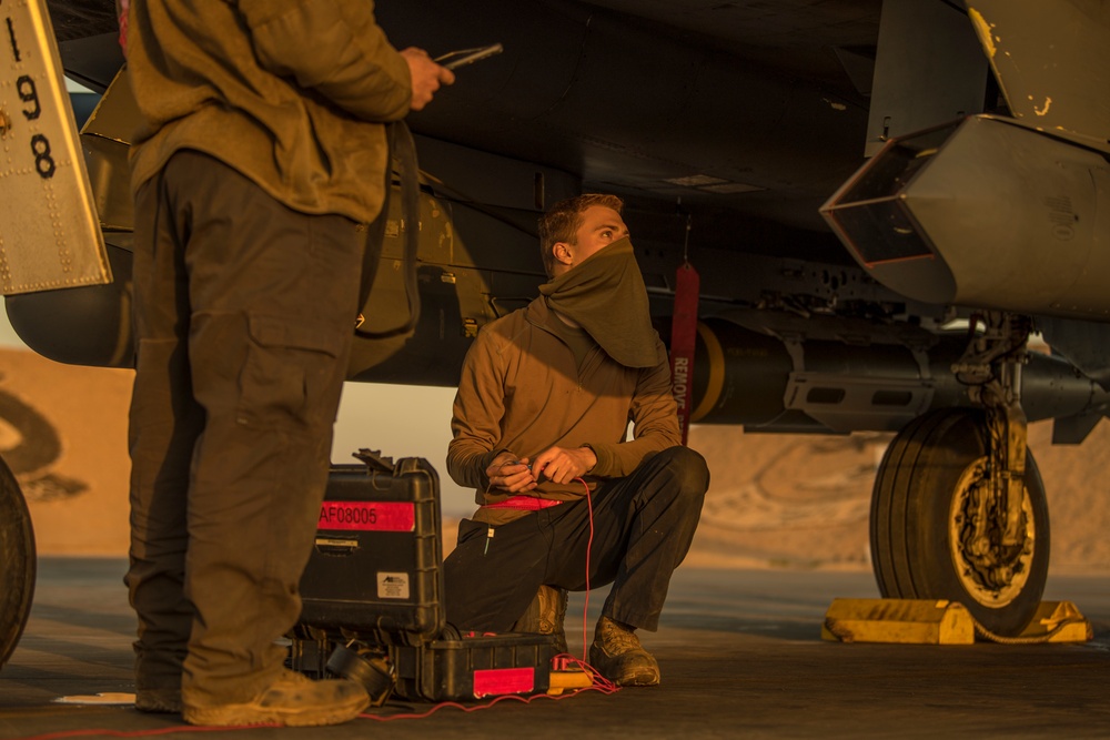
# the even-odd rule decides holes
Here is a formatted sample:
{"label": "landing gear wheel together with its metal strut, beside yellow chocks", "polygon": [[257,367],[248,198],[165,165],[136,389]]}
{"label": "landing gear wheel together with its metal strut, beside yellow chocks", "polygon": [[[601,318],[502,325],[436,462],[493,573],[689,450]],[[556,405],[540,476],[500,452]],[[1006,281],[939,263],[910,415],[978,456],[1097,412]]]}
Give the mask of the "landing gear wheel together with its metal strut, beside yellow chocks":
{"label": "landing gear wheel together with its metal strut, beside yellow chocks", "polygon": [[895,437],[872,494],[872,565],[884,596],[960,601],[1013,636],[1045,590],[1048,503],[1020,406],[1029,323],[983,320],[953,367],[982,408],[937,410]]}

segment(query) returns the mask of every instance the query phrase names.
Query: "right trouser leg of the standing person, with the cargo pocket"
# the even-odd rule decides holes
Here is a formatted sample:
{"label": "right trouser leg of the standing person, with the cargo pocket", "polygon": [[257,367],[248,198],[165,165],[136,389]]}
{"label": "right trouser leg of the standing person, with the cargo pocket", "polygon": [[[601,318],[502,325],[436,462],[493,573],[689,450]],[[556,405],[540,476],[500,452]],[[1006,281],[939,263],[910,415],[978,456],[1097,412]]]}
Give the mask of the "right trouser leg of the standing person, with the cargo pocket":
{"label": "right trouser leg of the standing person, with the cargo pocket", "polygon": [[[182,691],[196,714],[253,701],[281,676],[274,640],[300,612],[365,234],[341,216],[285,209],[196,152],[171,159],[162,187],[188,274],[188,363],[204,414],[188,453],[184,565],[195,619]],[[129,582],[149,590],[134,569]]]}

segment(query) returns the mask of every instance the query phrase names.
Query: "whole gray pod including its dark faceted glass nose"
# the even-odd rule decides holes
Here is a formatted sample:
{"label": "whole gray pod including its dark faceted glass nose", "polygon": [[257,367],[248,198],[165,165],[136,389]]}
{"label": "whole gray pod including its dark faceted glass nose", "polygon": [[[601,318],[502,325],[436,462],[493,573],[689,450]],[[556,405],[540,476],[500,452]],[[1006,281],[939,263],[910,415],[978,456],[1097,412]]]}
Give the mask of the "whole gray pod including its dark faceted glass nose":
{"label": "whole gray pod including its dark faceted glass nose", "polygon": [[918,301],[1110,321],[1106,156],[989,115],[917,141],[949,131],[892,141],[821,209],[852,255]]}

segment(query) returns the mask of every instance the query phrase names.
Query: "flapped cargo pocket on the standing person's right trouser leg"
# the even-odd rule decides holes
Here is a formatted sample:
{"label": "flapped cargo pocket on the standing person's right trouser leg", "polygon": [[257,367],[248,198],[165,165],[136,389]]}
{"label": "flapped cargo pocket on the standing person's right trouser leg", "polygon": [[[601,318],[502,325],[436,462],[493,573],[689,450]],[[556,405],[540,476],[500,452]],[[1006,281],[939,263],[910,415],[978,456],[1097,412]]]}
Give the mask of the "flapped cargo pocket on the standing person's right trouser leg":
{"label": "flapped cargo pocket on the standing person's right trouser leg", "polygon": [[240,374],[240,424],[329,426],[335,419],[345,368],[333,327],[250,315],[246,362]]}

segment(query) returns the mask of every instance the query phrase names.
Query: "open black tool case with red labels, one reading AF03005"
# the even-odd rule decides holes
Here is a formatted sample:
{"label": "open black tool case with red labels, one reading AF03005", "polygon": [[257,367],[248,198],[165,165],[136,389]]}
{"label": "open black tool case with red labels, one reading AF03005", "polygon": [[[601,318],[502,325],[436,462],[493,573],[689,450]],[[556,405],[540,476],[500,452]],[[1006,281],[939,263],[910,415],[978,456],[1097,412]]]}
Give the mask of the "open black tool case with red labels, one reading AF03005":
{"label": "open black tool case with red labels, one reading AF03005", "polygon": [[552,636],[464,637],[445,624],[435,469],[422,458],[355,456],[362,464],[333,465],[329,476],[290,667],[361,680],[381,701],[390,690],[428,701],[546,691]]}

